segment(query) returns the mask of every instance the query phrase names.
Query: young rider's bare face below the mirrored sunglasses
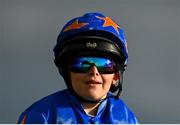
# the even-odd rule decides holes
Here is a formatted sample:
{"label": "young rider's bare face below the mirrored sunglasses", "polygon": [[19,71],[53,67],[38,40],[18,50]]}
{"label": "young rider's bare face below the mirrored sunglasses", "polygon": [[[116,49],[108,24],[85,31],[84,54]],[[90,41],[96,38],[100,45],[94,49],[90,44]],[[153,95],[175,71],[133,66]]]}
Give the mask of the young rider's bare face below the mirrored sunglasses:
{"label": "young rider's bare face below the mirrored sunglasses", "polygon": [[100,100],[106,97],[115,73],[100,74],[96,66],[92,66],[87,73],[70,72],[74,91],[88,100]]}

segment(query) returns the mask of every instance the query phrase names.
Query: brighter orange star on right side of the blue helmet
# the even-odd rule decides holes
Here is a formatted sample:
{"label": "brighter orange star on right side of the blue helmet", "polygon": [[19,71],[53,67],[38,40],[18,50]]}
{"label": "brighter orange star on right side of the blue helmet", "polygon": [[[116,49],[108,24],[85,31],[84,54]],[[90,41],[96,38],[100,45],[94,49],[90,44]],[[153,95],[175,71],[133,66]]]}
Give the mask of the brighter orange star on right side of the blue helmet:
{"label": "brighter orange star on right side of the blue helmet", "polygon": [[96,16],[96,17],[101,19],[101,20],[104,20],[103,27],[111,26],[119,34],[119,29],[118,28],[120,28],[120,27],[111,18],[109,18],[109,17],[99,17],[99,16]]}

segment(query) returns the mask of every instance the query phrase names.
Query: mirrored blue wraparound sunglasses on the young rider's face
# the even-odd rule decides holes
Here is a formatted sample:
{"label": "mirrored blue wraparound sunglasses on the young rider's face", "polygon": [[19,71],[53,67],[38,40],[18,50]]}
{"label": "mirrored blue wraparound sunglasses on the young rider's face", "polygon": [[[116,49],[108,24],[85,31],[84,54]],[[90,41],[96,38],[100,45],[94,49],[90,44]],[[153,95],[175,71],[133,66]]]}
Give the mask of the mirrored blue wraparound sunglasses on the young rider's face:
{"label": "mirrored blue wraparound sunglasses on the young rider's face", "polygon": [[100,74],[111,74],[118,71],[117,64],[104,57],[77,57],[70,61],[70,71],[86,73],[92,66],[96,66]]}

